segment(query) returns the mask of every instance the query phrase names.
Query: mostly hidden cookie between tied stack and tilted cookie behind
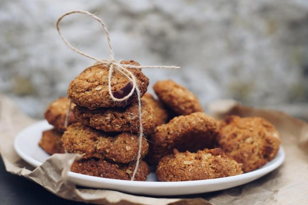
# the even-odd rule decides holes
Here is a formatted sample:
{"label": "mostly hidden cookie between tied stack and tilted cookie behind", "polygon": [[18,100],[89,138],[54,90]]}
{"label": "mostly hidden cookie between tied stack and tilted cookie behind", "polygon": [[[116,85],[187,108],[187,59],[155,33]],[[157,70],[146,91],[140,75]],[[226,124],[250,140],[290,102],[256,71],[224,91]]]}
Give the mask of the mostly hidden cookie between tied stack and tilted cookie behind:
{"label": "mostly hidden cookie between tied stack and tilted cookie behind", "polygon": [[160,100],[156,100],[151,94],[145,93],[142,97],[150,106],[152,106],[156,116],[156,126],[166,124],[168,120],[168,112]]}

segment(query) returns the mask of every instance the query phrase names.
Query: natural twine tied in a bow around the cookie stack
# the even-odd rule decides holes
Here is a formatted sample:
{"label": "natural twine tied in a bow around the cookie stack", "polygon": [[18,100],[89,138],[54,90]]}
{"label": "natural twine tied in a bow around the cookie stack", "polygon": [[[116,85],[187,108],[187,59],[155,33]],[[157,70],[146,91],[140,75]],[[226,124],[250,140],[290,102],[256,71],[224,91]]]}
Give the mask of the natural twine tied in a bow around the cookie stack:
{"label": "natural twine tied in a bow around the cookie stack", "polygon": [[[79,13],[79,14],[86,14],[92,18],[94,18],[96,21],[98,21],[102,26],[103,29],[105,30],[106,36],[107,36],[107,43],[108,43],[108,47],[109,47],[109,53],[110,53],[110,59],[111,60],[100,60],[98,58],[95,58],[93,56],[90,56],[76,48],[74,48],[62,35],[61,30],[59,28],[59,23],[60,21],[65,17],[68,16],[70,14],[74,14],[74,13]],[[105,65],[105,67],[109,68],[109,72],[108,72],[108,92],[109,95],[111,97],[111,99],[113,101],[124,101],[127,100],[129,97],[131,97],[134,93],[134,91],[136,90],[136,94],[137,94],[137,99],[138,99],[138,105],[139,105],[139,150],[138,150],[138,155],[137,155],[137,160],[136,160],[136,165],[134,168],[134,172],[133,175],[131,177],[131,180],[133,181],[140,163],[140,158],[141,158],[141,145],[142,145],[142,137],[143,137],[143,127],[142,127],[142,113],[141,113],[141,99],[140,99],[140,90],[139,87],[137,86],[136,83],[136,78],[135,75],[132,74],[132,72],[130,72],[127,68],[171,68],[171,69],[178,69],[180,67],[177,66],[135,66],[135,65],[127,65],[127,64],[120,64],[120,62],[116,63],[116,60],[114,58],[114,52],[112,50],[112,46],[111,46],[111,40],[110,40],[110,35],[108,32],[108,29],[106,27],[106,25],[104,24],[104,22],[99,19],[99,17],[95,16],[94,14],[91,14],[87,11],[82,11],[82,10],[74,10],[74,11],[70,11],[66,14],[63,14],[57,21],[57,30],[59,32],[59,35],[61,36],[61,38],[63,39],[63,41],[65,42],[65,44],[67,44],[68,47],[70,47],[72,50],[74,50],[75,52],[86,56],[88,58],[91,58],[93,60],[95,60],[97,62],[97,64],[103,64]],[[122,98],[115,98],[111,92],[111,78],[112,78],[112,73],[114,72],[114,69],[117,70],[118,72],[120,72],[122,75],[124,75],[126,78],[128,78],[128,80],[132,83],[132,90],[128,93],[128,95],[122,97]],[[68,121],[68,114],[70,112],[71,109],[71,103],[69,105],[69,108],[67,110],[67,115],[65,118],[65,126],[67,126],[67,121]]]}

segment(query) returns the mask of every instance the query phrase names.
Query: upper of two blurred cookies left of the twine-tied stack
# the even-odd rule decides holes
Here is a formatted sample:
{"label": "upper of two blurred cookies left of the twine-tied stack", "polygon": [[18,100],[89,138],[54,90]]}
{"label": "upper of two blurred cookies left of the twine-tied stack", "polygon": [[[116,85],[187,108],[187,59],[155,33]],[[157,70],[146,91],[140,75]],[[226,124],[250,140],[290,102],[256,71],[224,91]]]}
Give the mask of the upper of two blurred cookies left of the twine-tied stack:
{"label": "upper of two blurred cookies left of the twine-tied stack", "polygon": [[[48,121],[49,124],[53,125],[55,129],[64,132],[64,122],[66,113],[68,110],[68,106],[70,105],[70,99],[66,97],[60,97],[59,99],[55,100],[54,102],[50,103],[48,106],[44,116],[45,119]],[[71,110],[74,108],[75,104],[71,104]],[[68,115],[68,125],[77,122],[72,112],[69,112]]]}

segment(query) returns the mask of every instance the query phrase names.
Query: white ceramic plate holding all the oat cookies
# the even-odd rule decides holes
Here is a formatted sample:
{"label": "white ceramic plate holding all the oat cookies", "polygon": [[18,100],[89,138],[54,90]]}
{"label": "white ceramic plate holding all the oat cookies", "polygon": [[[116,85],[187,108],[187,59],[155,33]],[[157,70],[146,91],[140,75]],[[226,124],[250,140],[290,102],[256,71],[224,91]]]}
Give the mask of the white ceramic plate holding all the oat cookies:
{"label": "white ceramic plate holding all the oat cookies", "polygon": [[[20,132],[14,141],[18,155],[34,167],[41,165],[50,156],[38,146],[38,143],[42,132],[51,128],[47,121],[41,121]],[[107,179],[74,172],[68,172],[68,176],[75,184],[91,188],[144,195],[185,195],[218,191],[251,182],[278,168],[284,159],[285,153],[280,147],[276,158],[257,170],[237,176],[198,181],[158,182],[155,173],[151,173],[145,182]]]}

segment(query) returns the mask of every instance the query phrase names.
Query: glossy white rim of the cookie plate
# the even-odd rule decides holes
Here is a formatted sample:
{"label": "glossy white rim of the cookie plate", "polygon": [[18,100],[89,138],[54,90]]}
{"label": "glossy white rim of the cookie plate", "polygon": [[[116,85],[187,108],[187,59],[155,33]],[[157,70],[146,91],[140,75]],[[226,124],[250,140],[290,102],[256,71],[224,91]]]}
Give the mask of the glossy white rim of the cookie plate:
{"label": "glossy white rim of the cookie plate", "polygon": [[[39,126],[40,124],[46,124],[46,120],[42,120],[39,122],[36,122],[34,124],[31,124],[27,127],[25,127],[22,131],[20,131],[15,139],[14,139],[14,149],[16,153],[18,154],[19,157],[21,157],[23,160],[25,160],[27,163],[29,163],[31,166],[34,168],[37,168],[40,166],[41,163],[40,161],[37,161],[33,159],[32,157],[28,156],[28,154],[24,153],[18,146],[18,141],[23,137],[23,133],[26,132],[26,130],[31,129],[34,126]],[[38,145],[37,145],[38,146]],[[280,145],[279,150],[278,150],[279,156],[281,155],[278,160],[270,164],[267,167],[261,167],[258,168],[254,171],[247,172],[244,174],[236,175],[236,176],[228,176],[228,177],[221,177],[221,178],[215,178],[215,179],[206,179],[206,180],[194,180],[194,181],[179,181],[179,182],[160,182],[160,181],[130,181],[130,180],[119,180],[119,179],[109,179],[109,178],[103,178],[103,177],[97,177],[97,176],[88,176],[84,174],[79,174],[75,172],[68,172],[68,177],[69,178],[74,178],[74,179],[81,179],[81,180],[87,180],[87,181],[96,181],[99,183],[108,183],[112,185],[134,185],[135,187],[190,187],[190,186],[198,186],[198,185],[210,185],[210,184],[216,184],[216,183],[226,183],[229,181],[238,181],[238,180],[244,180],[251,178],[253,176],[264,176],[265,174],[275,170],[279,166],[283,164],[286,158],[285,151]],[[276,155],[276,157],[278,154]],[[276,159],[276,157],[274,159]],[[273,160],[274,160],[273,159]],[[259,177],[257,177],[259,178]]]}

